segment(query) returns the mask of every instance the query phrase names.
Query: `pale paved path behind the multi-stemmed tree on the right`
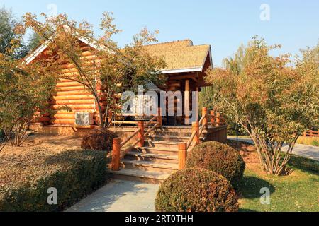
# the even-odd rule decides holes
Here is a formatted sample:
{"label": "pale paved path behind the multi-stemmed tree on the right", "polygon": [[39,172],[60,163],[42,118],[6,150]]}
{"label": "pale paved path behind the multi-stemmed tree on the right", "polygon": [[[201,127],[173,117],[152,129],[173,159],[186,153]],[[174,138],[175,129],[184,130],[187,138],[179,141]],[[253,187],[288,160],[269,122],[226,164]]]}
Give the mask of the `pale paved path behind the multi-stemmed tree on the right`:
{"label": "pale paved path behind the multi-stemmed tree on the right", "polygon": [[[236,141],[236,137],[233,137],[233,136],[229,136],[228,139]],[[238,138],[238,141],[245,141],[252,144],[254,143],[252,142],[250,138]],[[288,148],[288,145],[284,145],[282,150],[283,151],[287,150],[287,148]],[[293,147],[292,153],[294,155],[300,155],[303,157],[308,157],[313,160],[319,161],[319,147],[316,147],[316,146],[296,143],[296,145]]]}

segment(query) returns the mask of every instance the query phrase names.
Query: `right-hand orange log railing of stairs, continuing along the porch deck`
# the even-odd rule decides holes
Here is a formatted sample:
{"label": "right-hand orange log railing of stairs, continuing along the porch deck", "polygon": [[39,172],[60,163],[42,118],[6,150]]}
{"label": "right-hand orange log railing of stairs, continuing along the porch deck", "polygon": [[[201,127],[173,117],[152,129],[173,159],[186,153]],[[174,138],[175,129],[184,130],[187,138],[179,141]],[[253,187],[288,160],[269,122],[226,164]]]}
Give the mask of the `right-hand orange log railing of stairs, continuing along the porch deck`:
{"label": "right-hand orange log railing of stairs, continuing along the porch deck", "polygon": [[225,126],[225,118],[219,112],[214,112],[213,110],[208,114],[207,107],[203,107],[201,119],[191,124],[192,132],[189,141],[179,143],[179,169],[185,168],[187,153],[200,143],[201,134],[204,129],[208,129],[209,125]]}

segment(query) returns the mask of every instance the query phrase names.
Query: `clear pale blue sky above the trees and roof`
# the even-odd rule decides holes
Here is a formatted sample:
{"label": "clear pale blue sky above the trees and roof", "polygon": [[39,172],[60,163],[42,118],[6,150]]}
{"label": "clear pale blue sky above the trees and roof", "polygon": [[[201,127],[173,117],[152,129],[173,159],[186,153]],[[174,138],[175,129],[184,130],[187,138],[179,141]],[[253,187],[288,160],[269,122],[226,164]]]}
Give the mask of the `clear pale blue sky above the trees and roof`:
{"label": "clear pale blue sky above the trees and roof", "polygon": [[[121,46],[145,26],[159,30],[159,42],[189,38],[194,44],[211,44],[214,66],[221,66],[224,57],[232,56],[254,35],[268,44],[282,44],[274,54],[297,54],[319,40],[318,0],[0,0],[0,6],[11,8],[17,17],[26,12],[50,13],[50,4],[55,4],[57,13],[87,20],[97,33],[103,11],[112,11],[123,30],[116,36]],[[260,19],[262,4],[269,6],[270,20]]]}

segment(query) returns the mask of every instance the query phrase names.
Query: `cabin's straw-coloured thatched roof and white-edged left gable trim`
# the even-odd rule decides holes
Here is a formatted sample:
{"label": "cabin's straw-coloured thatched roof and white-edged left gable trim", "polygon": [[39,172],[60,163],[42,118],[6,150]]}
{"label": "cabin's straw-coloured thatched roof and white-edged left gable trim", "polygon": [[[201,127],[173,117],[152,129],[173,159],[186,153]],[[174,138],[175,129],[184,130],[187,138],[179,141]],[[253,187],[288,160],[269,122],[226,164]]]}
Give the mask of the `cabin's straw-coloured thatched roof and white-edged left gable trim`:
{"label": "cabin's straw-coloured thatched roof and white-edged left gable trim", "polygon": [[[94,41],[81,39],[80,41],[88,44],[94,49],[101,49]],[[26,57],[26,64],[30,64],[33,59],[38,57],[45,49],[48,42],[44,42]],[[162,69],[162,73],[182,73],[182,72],[203,72],[203,67],[207,57],[211,66],[211,46],[209,44],[193,45],[191,40],[181,40],[174,42],[164,42],[146,45],[145,50],[152,57],[164,57],[167,66]]]}

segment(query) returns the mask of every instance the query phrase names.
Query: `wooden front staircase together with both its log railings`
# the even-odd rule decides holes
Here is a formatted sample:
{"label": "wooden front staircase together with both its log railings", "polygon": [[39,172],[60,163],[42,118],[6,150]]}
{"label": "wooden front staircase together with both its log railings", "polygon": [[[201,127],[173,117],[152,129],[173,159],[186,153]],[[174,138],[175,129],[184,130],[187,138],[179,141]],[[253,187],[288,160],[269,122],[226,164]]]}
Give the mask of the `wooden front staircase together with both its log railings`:
{"label": "wooden front staircase together with both its log railings", "polygon": [[[184,169],[186,153],[200,143],[208,125],[225,125],[219,113],[211,111],[208,115],[207,107],[203,107],[201,119],[192,126],[162,126],[160,112],[159,109],[147,123],[139,121],[138,129],[125,141],[113,139],[111,169],[115,178],[161,183],[173,172]],[[124,148],[135,136],[138,140]]]}

